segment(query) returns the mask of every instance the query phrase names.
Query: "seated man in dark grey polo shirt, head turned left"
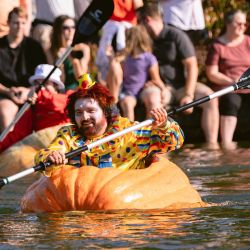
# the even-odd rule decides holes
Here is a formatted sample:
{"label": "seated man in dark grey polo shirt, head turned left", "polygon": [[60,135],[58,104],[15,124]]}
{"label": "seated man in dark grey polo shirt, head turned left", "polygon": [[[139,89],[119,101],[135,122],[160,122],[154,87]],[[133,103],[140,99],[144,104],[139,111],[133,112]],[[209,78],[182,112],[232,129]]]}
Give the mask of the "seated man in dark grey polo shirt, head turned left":
{"label": "seated man in dark grey polo shirt, head turned left", "polygon": [[[169,93],[168,103],[177,101],[185,105],[213,93],[206,85],[197,82],[198,65],[193,44],[181,30],[164,24],[162,9],[147,4],[137,9],[138,22],[145,25],[153,39],[153,53],[159,62],[160,75]],[[201,127],[207,143],[218,147],[218,100],[201,105]],[[188,109],[187,114],[193,109]]]}

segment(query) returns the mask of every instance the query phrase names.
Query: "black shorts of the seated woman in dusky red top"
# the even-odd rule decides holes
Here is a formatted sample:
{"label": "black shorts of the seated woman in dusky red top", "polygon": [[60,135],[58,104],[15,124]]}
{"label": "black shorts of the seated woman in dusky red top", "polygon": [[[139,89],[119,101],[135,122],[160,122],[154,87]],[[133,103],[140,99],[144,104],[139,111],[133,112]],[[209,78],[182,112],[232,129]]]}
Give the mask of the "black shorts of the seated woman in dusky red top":
{"label": "black shorts of the seated woman in dusky red top", "polygon": [[241,107],[241,96],[235,93],[230,93],[220,97],[219,108],[220,115],[237,116]]}

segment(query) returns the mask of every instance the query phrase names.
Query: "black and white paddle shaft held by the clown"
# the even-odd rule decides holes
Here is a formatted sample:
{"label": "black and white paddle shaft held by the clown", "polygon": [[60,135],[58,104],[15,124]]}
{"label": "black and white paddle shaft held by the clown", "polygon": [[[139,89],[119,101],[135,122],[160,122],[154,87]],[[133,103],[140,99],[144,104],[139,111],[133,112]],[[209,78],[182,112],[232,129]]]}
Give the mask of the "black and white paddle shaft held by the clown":
{"label": "black and white paddle shaft held by the clown", "polygon": [[[191,103],[188,103],[186,105],[183,105],[181,107],[177,107],[177,108],[172,109],[171,111],[168,112],[168,115],[172,115],[172,114],[184,111],[186,109],[198,106],[198,105],[200,105],[200,104],[202,104],[204,102],[210,101],[210,100],[212,100],[214,98],[217,98],[217,97],[220,97],[222,95],[228,94],[228,93],[233,92],[235,90],[244,89],[244,88],[247,88],[247,87],[249,88],[249,85],[250,85],[249,76],[245,77],[245,78],[241,78],[240,81],[238,83],[235,83],[234,85],[231,85],[231,86],[226,87],[226,88],[224,88],[222,90],[214,92],[211,95],[208,95],[208,96],[202,97],[200,99],[197,99],[197,100],[195,100],[195,101],[193,101]],[[80,147],[80,148],[78,148],[76,150],[68,152],[68,153],[65,154],[65,157],[66,158],[72,158],[72,157],[80,154],[81,152],[84,152],[84,151],[90,150],[90,149],[92,149],[94,147],[100,146],[105,142],[111,141],[111,140],[113,140],[113,139],[115,139],[115,138],[117,138],[119,136],[122,136],[124,134],[129,133],[129,132],[132,132],[132,131],[134,131],[136,129],[140,129],[140,128],[144,127],[144,126],[151,125],[152,123],[153,123],[153,119],[145,120],[145,121],[140,122],[140,123],[138,123],[138,124],[136,124],[134,126],[131,126],[131,127],[126,128],[126,129],[124,129],[122,131],[119,131],[117,133],[114,133],[112,135],[104,137],[104,138],[102,138],[100,140],[97,140],[97,141],[95,141],[95,142],[93,142],[93,143],[91,143],[89,145],[84,145],[83,147]],[[20,172],[18,174],[6,177],[6,178],[0,180],[0,189],[4,185],[6,185],[6,184],[8,184],[10,182],[13,182],[13,181],[15,181],[17,179],[20,179],[20,178],[22,178],[22,177],[24,177],[26,175],[31,174],[31,173],[44,170],[46,167],[48,167],[50,165],[52,165],[51,162],[41,162],[38,165],[36,165],[35,167],[24,170],[24,171],[22,171],[22,172]]]}

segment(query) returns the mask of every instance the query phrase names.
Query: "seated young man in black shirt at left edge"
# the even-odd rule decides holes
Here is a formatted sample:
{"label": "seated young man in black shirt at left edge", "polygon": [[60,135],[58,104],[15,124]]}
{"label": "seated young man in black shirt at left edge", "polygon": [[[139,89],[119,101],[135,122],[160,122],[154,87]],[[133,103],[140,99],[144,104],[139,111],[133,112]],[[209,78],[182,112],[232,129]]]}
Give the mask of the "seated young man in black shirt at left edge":
{"label": "seated young man in black shirt at left edge", "polygon": [[8,15],[9,33],[0,38],[0,132],[27,100],[36,66],[47,63],[41,45],[24,35],[27,18],[23,8],[15,7]]}

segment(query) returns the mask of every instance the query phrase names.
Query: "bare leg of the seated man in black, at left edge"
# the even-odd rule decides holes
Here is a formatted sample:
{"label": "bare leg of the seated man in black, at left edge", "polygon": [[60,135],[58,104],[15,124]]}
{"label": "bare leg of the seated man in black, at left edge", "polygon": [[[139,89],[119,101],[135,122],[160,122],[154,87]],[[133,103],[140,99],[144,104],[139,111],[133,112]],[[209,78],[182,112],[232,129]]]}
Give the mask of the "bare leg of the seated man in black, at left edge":
{"label": "bare leg of the seated man in black, at left edge", "polygon": [[0,98],[0,132],[14,120],[18,106],[9,99]]}

